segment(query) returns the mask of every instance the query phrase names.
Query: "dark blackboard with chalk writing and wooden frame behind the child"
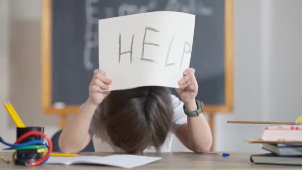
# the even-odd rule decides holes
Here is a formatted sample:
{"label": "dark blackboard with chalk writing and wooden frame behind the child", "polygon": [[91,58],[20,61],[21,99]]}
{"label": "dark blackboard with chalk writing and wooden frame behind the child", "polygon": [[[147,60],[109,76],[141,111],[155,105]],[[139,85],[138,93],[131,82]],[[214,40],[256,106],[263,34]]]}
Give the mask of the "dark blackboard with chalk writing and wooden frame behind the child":
{"label": "dark blackboard with chalk writing and wooden frame behind the child", "polygon": [[69,106],[77,108],[88,97],[93,70],[98,68],[99,19],[160,10],[196,15],[190,63],[199,84],[196,99],[206,104],[206,111],[231,111],[231,0],[46,1],[41,20],[44,111],[75,111]]}

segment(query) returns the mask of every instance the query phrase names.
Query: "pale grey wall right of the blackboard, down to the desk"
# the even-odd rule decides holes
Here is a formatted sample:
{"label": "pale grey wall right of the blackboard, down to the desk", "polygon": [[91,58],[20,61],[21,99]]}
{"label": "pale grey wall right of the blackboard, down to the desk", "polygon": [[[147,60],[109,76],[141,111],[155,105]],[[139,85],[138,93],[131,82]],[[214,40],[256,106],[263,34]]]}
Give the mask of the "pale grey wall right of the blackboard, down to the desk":
{"label": "pale grey wall right of the blackboard, down to the desk", "polygon": [[234,111],[217,116],[216,149],[260,152],[262,125],[227,120],[295,121],[302,115],[301,0],[235,0]]}

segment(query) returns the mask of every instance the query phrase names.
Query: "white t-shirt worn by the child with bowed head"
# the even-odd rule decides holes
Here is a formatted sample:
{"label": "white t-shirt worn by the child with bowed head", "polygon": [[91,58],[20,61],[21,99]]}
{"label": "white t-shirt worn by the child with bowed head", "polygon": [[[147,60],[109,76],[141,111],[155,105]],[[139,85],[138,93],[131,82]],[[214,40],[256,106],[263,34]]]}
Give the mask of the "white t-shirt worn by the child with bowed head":
{"label": "white t-shirt worn by the child with bowed head", "polygon": [[[166,140],[162,144],[162,146],[159,148],[160,152],[170,152],[171,151],[171,145],[172,145],[172,133],[175,133],[176,129],[187,122],[187,116],[185,115],[183,111],[183,102],[180,101],[175,95],[171,94],[172,99],[172,108],[173,108],[173,120],[171,124],[171,130],[167,134]],[[97,128],[100,128],[99,125],[97,125],[95,119],[99,119],[99,115],[93,116],[91,123],[90,123],[90,130],[93,133],[92,141],[95,152],[123,152],[122,149],[116,147],[111,142],[108,134],[106,131]],[[154,147],[147,148],[144,152],[155,152]]]}

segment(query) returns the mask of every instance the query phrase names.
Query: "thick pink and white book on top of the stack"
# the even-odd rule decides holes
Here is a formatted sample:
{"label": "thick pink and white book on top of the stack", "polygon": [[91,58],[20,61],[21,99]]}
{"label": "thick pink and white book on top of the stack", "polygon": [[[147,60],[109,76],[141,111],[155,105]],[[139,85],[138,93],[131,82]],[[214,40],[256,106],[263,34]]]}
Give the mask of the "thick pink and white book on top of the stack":
{"label": "thick pink and white book on top of the stack", "polygon": [[265,141],[302,141],[302,125],[265,127],[262,133]]}

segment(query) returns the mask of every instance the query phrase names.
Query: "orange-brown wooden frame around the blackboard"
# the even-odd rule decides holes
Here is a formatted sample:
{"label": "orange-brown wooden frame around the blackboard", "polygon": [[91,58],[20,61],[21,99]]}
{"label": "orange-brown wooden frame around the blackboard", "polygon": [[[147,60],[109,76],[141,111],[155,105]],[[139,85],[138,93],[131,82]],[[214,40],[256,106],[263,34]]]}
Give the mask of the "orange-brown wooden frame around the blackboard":
{"label": "orange-brown wooden frame around the blackboard", "polygon": [[[214,125],[213,114],[233,110],[233,0],[225,0],[225,104],[205,105],[204,111],[210,114],[210,124]],[[41,16],[41,95],[42,110],[47,114],[60,114],[61,127],[68,114],[75,113],[79,105],[67,105],[62,109],[52,104],[52,0],[42,1]],[[212,122],[213,121],[213,122]],[[212,123],[211,123],[212,122]]]}

